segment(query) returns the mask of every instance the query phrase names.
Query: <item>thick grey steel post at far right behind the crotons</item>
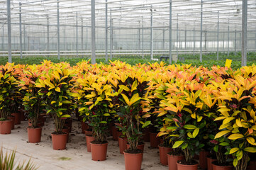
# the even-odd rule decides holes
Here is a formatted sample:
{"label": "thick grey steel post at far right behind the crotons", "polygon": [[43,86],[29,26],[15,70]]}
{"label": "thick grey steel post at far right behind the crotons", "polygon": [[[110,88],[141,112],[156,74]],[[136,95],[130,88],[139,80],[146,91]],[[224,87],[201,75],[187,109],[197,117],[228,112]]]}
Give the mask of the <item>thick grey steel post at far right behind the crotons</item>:
{"label": "thick grey steel post at far right behind the crotons", "polygon": [[247,65],[247,0],[243,0],[242,14],[242,67]]}

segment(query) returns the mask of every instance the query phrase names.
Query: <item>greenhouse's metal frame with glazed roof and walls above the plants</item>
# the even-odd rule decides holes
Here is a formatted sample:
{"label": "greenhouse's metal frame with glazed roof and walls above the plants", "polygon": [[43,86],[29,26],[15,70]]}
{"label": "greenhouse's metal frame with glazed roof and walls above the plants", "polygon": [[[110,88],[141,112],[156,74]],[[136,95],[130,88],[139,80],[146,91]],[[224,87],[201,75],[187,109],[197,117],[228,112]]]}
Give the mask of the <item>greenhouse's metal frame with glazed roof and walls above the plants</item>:
{"label": "greenhouse's metal frame with glazed roof and walls above the plants", "polygon": [[207,52],[218,60],[218,52],[241,50],[245,65],[247,51],[256,51],[255,0],[0,0],[0,6],[0,56],[9,62],[130,54],[169,55],[172,63],[174,53],[198,53],[202,61]]}

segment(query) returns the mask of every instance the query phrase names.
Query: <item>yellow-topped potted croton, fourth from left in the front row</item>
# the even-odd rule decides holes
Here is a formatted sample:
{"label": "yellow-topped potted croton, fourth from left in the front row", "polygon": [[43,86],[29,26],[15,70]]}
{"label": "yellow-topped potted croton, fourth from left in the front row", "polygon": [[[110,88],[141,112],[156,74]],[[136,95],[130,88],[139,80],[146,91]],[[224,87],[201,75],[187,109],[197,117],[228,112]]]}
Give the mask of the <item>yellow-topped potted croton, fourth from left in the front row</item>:
{"label": "yellow-topped potted croton, fourth from left in the front row", "polygon": [[106,77],[101,74],[84,75],[77,79],[77,84],[80,88],[74,96],[78,97],[81,103],[79,112],[85,113],[88,117],[95,139],[90,142],[91,159],[104,161],[108,146],[106,141],[108,124],[111,123],[111,98],[113,96],[111,86]]}

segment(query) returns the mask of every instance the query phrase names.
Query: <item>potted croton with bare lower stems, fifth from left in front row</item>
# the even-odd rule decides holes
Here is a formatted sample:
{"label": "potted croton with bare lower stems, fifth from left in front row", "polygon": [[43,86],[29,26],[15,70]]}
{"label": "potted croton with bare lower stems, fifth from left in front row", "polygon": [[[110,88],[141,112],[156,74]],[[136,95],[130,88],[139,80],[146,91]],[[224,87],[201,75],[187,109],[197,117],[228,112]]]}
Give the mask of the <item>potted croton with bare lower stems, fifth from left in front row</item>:
{"label": "potted croton with bare lower stems, fifth from left in front row", "polygon": [[143,150],[138,149],[142,128],[150,125],[150,121],[143,122],[143,118],[150,116],[146,113],[149,111],[148,76],[140,71],[136,76],[122,72],[119,77],[116,85],[114,82],[112,84],[118,86],[115,93],[118,100],[114,104],[118,103],[117,114],[121,120],[119,127],[126,134],[129,143],[129,148],[124,151],[126,170],[137,170],[141,169],[143,159]]}

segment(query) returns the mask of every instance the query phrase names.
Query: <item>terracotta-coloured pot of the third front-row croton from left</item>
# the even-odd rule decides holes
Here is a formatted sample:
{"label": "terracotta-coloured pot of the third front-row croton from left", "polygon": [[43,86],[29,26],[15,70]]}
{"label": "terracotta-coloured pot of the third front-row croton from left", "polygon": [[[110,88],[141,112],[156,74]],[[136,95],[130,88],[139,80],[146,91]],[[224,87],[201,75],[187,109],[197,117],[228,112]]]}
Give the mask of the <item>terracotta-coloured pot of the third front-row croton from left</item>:
{"label": "terracotta-coloured pot of the third front-row croton from left", "polygon": [[63,150],[66,149],[67,133],[62,135],[52,134],[52,149]]}

